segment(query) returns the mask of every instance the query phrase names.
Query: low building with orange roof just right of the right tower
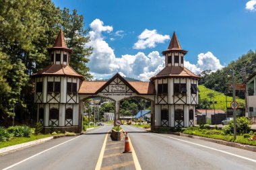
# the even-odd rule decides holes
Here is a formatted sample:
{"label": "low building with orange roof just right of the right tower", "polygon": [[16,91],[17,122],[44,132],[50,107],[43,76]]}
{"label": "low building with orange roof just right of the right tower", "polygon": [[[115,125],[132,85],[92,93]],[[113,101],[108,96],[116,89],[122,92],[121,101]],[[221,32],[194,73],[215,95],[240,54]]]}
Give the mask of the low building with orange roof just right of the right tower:
{"label": "low building with orange roof just right of the right tower", "polygon": [[209,121],[211,124],[222,124],[222,120],[226,118],[224,110],[195,110],[197,116],[197,124],[207,124]]}

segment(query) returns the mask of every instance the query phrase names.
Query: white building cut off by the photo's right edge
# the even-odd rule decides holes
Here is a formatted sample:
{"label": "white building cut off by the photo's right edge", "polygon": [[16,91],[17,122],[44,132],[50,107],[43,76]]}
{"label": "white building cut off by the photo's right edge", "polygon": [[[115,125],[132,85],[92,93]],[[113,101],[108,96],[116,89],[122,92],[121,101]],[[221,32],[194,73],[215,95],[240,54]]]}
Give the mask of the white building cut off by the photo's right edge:
{"label": "white building cut off by the photo's right edge", "polygon": [[256,72],[247,79],[247,109],[248,117],[256,122]]}

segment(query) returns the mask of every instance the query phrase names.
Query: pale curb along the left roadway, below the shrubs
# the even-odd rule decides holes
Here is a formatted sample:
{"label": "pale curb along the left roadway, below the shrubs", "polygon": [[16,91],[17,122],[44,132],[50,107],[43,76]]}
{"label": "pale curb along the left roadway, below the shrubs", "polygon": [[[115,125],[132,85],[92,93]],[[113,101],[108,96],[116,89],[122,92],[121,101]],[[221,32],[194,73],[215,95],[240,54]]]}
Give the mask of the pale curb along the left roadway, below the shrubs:
{"label": "pale curb along the left roadway, below the shrubs", "polygon": [[80,134],[66,134],[66,135],[50,136],[50,137],[47,137],[47,138],[40,138],[38,140],[33,140],[33,141],[30,141],[30,142],[15,144],[13,146],[7,146],[5,148],[0,148],[0,154],[7,153],[9,151],[14,151],[14,150],[24,148],[24,147],[27,147],[27,146],[32,146],[34,144],[39,144],[41,142],[45,142],[45,141],[52,140],[52,139],[55,139],[55,138],[62,138],[62,137],[65,137],[65,136],[79,136],[79,135]]}

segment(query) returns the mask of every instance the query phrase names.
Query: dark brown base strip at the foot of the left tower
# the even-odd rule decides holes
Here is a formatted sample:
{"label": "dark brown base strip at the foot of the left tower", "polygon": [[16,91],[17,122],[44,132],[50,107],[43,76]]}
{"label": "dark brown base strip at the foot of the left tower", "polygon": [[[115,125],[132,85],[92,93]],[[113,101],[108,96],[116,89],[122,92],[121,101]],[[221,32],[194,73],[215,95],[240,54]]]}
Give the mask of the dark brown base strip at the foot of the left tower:
{"label": "dark brown base strip at the foot of the left tower", "polygon": [[61,133],[65,133],[65,132],[74,132],[74,133],[80,133],[81,129],[78,126],[65,126],[65,127],[44,127],[42,129],[42,133],[44,134],[49,134],[52,132],[61,132]]}

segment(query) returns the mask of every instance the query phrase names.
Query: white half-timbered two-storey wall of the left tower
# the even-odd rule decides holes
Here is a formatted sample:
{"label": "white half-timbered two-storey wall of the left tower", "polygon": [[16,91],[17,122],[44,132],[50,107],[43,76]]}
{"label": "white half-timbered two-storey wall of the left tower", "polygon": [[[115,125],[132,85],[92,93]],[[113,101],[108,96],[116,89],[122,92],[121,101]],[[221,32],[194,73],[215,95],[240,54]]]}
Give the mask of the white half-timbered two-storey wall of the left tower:
{"label": "white half-timbered two-storey wall of the left tower", "polygon": [[34,99],[38,103],[38,122],[44,127],[78,126],[79,81],[75,77],[36,78]]}

